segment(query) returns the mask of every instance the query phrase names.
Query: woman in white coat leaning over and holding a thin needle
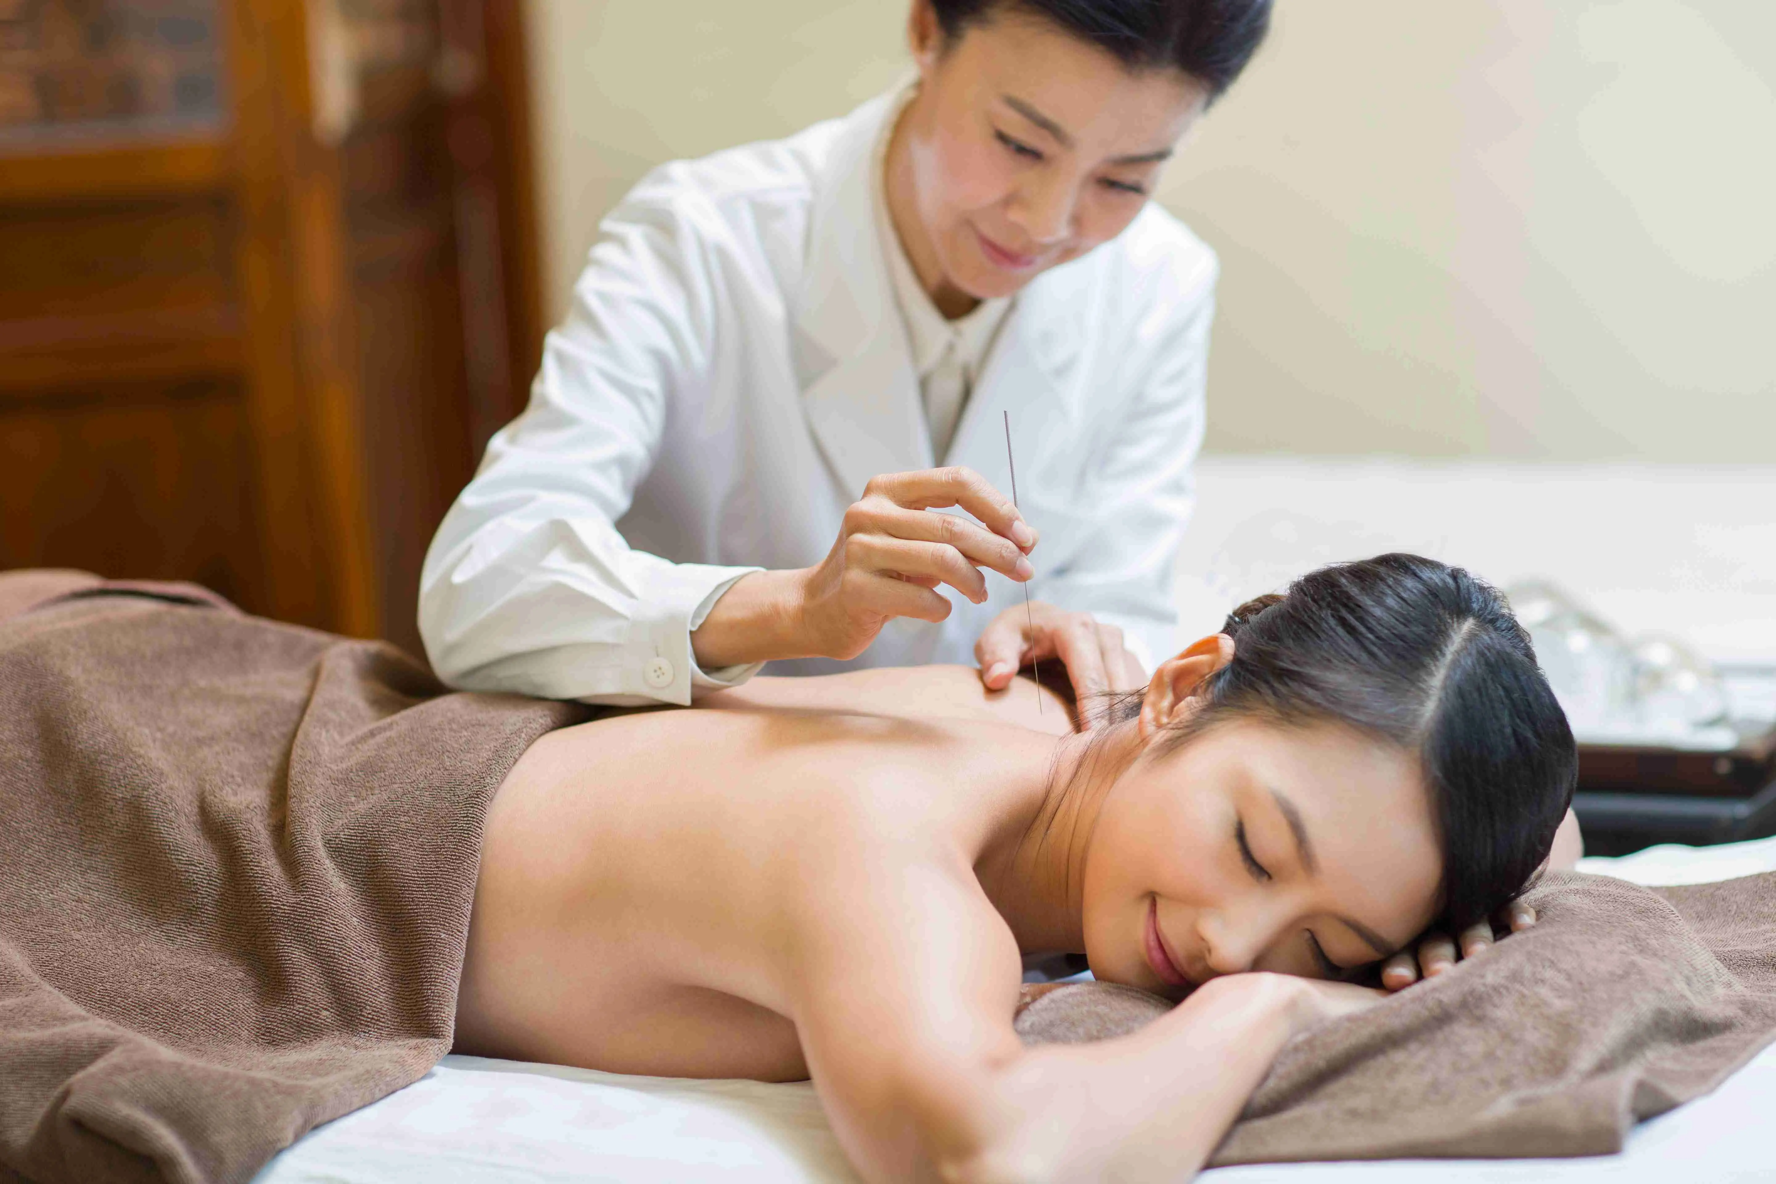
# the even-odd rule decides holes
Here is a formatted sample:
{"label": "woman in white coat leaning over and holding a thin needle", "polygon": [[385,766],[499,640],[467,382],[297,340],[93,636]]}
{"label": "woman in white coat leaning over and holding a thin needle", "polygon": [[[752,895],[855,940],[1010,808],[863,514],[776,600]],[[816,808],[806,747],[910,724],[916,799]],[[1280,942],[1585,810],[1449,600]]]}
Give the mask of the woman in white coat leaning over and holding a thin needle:
{"label": "woman in white coat leaning over and holding a thin needle", "polygon": [[652,172],[432,543],[433,667],[614,705],[764,662],[1142,685],[1172,650],[1217,279],[1149,197],[1268,20],[913,0],[909,83]]}

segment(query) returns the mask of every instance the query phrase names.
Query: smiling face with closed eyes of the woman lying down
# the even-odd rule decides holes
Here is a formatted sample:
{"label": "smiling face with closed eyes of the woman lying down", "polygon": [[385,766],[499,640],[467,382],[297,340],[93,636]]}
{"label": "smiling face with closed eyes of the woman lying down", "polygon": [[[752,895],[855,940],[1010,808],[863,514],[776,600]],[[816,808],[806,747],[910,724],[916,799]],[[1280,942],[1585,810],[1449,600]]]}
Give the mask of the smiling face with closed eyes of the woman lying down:
{"label": "smiling face with closed eyes of the woman lying down", "polygon": [[1092,833],[1099,978],[1179,998],[1240,971],[1337,976],[1431,923],[1442,854],[1412,753],[1261,721],[1158,747],[1108,790]]}

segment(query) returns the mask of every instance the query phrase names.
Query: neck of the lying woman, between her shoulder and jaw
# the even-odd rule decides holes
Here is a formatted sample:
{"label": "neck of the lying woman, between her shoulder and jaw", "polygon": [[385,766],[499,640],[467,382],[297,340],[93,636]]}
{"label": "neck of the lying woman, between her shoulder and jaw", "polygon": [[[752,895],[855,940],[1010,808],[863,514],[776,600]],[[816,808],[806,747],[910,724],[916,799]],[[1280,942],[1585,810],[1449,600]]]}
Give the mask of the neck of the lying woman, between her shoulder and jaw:
{"label": "neck of the lying woman, between her shoulder and jaw", "polygon": [[975,873],[1027,953],[1085,951],[1085,861],[1110,786],[1138,753],[1133,724],[1060,737],[1041,783],[982,852]]}

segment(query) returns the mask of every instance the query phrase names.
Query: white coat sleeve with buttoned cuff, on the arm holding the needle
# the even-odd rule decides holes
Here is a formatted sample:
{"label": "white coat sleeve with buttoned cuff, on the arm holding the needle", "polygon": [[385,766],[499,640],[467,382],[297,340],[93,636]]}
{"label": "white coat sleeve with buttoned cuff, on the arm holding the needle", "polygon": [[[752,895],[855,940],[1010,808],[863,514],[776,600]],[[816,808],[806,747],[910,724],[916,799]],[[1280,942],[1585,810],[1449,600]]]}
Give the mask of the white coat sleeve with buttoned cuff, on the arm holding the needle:
{"label": "white coat sleeve with buttoned cuff, on the arm holding the needle", "polygon": [[712,215],[630,199],[600,227],[526,412],[499,431],[426,552],[419,632],[467,691],[687,705],[758,666],[702,671],[691,630],[758,568],[670,563],[616,531],[671,399],[700,398],[721,298]]}

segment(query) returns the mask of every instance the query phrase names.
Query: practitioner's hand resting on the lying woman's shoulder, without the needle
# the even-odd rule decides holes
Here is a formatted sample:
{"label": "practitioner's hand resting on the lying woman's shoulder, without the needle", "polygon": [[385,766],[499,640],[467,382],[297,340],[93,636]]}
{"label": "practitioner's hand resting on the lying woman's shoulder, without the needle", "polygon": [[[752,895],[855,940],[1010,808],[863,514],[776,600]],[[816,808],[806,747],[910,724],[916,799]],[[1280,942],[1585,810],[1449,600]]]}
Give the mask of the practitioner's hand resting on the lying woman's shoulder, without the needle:
{"label": "practitioner's hand resting on the lying woman's shoulder, without the needle", "polygon": [[[1058,659],[1073,683],[1073,696],[1083,706],[1089,696],[1106,691],[1133,691],[1147,683],[1140,659],[1122,644],[1122,630],[1099,621],[1090,612],[1067,612],[1032,600],[1025,607],[1005,609],[975,643],[980,682],[987,691],[1002,691],[1023,666]],[[1090,726],[1085,712],[1080,724]]]}

